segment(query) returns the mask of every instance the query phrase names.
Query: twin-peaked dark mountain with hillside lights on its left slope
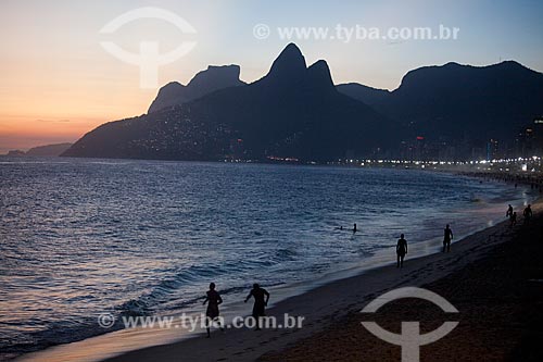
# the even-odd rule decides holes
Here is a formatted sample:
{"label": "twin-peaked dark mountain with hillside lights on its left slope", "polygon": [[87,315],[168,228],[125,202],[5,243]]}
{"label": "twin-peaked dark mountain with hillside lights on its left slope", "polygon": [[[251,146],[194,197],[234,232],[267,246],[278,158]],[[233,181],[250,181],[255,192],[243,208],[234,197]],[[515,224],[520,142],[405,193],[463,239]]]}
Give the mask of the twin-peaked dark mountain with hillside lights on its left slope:
{"label": "twin-peaked dark mountain with hillside lights on its left slope", "polygon": [[245,158],[329,161],[386,154],[402,127],[337,91],[328,64],[306,66],[288,45],[267,75],[135,118],[104,124],[64,155],[217,160]]}

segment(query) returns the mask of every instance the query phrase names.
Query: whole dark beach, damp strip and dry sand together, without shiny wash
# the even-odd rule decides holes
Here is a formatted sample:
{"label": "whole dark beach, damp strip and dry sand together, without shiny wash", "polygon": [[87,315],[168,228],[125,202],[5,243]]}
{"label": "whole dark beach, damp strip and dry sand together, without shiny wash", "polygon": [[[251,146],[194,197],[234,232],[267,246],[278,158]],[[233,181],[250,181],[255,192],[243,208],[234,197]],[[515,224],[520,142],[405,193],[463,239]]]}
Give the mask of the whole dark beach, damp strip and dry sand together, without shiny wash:
{"label": "whole dark beach, damp strip and dry sand together, without shiny wash", "polygon": [[[406,259],[354,277],[332,282],[289,298],[268,310],[304,316],[299,329],[228,329],[212,338],[135,350],[108,361],[315,361],[400,360],[400,347],[388,345],[359,324],[359,311],[381,294],[399,287],[425,287],[459,311],[458,327],[444,339],[424,347],[421,359],[468,361],[529,360],[540,353],[543,267],[534,258],[541,246],[541,203],[528,226],[504,221],[453,244],[450,253]],[[428,302],[404,300],[379,310],[376,321],[391,332],[400,321],[420,321],[430,332],[445,319]],[[248,305],[249,307],[249,305]],[[532,353],[532,354],[530,354]],[[476,358],[477,355],[477,358]],[[520,358],[520,359],[519,359]]]}

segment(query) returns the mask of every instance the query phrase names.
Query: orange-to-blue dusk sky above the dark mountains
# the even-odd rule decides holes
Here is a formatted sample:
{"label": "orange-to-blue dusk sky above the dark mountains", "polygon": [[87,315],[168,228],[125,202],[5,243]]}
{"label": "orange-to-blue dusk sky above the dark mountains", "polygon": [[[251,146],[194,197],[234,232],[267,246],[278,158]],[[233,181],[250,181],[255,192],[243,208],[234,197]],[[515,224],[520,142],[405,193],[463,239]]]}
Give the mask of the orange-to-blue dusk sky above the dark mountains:
{"label": "orange-to-blue dusk sky above the dark mountains", "polygon": [[[138,18],[101,33],[117,16],[141,8],[174,14],[194,32],[163,18]],[[542,72],[542,14],[539,0],[0,0],[0,153],[73,142],[102,123],[146,113],[161,85],[187,84],[210,64],[239,64],[241,79],[254,82],[289,42],[301,48],[308,64],[325,59],[336,84],[391,90],[409,70],[451,61],[516,60]],[[367,35],[372,28],[388,35],[391,28],[413,33],[417,27],[433,35],[440,24],[457,28],[456,39]],[[328,33],[289,39],[285,29],[293,28]],[[351,39],[337,33],[350,29]],[[160,54],[195,45],[155,66],[157,82],[142,88],[141,66],[108,52],[104,41],[135,54],[146,41],[156,43]]]}

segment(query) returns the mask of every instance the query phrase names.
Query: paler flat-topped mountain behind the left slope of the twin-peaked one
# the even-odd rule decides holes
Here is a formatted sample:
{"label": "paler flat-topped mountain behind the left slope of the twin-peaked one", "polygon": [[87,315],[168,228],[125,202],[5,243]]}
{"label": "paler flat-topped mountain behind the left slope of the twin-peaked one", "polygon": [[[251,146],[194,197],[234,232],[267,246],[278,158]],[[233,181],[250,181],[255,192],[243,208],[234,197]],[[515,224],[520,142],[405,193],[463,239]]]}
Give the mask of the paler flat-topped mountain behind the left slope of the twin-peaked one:
{"label": "paler flat-topped mountain behind the left slope of the twin-peaked one", "polygon": [[242,86],[245,83],[239,79],[239,65],[210,65],[207,70],[198,73],[186,86],[178,82],[168,83],[159,90],[148,113],[186,103],[218,89]]}

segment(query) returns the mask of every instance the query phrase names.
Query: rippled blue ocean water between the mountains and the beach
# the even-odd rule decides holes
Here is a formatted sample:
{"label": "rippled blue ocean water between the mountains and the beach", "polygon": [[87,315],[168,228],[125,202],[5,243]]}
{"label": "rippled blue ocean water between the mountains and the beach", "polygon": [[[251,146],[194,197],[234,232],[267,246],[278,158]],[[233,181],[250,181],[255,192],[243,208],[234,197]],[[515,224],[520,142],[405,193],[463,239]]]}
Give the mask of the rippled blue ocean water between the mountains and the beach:
{"label": "rippled blue ocean water between the mountains and the beach", "polygon": [[437,251],[445,224],[467,235],[530,198],[417,170],[0,158],[0,359],[104,333],[104,311],[197,311],[210,282],[240,300],[394,262],[401,233]]}

